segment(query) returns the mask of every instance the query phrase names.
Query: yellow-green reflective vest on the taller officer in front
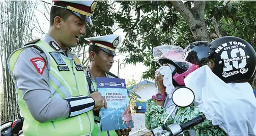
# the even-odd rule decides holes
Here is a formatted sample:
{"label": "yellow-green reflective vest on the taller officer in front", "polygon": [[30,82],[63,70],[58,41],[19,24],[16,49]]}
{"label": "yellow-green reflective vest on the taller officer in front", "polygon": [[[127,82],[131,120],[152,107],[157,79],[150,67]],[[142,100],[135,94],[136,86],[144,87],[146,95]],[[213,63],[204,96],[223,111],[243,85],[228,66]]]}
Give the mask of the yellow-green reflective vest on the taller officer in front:
{"label": "yellow-green reflective vest on the taller officer in front", "polygon": [[[42,50],[47,60],[48,72],[49,72],[49,85],[51,90],[51,96],[56,99],[67,98],[67,96],[75,97],[80,95],[89,96],[88,83],[86,80],[86,74],[84,71],[77,71],[74,59],[68,58],[60,54],[63,61],[68,66],[69,71],[59,71],[58,64],[54,61],[54,58],[50,53],[55,52],[49,44],[43,40],[37,41],[34,44],[30,44],[23,48],[14,51],[9,59],[9,69],[13,72],[14,64],[17,61],[19,54],[26,48],[35,47]],[[59,54],[59,53],[58,53]],[[79,59],[78,59],[79,60]],[[79,60],[80,61],[80,60]],[[81,64],[81,62],[80,62]],[[47,66],[47,65],[46,65]],[[16,83],[16,81],[14,80]],[[20,89],[17,88],[18,104],[22,115],[24,116],[23,133],[24,135],[91,135],[94,129],[93,111],[80,114],[75,117],[60,121],[51,121],[40,123],[35,120],[29,109],[22,99],[23,96]]]}

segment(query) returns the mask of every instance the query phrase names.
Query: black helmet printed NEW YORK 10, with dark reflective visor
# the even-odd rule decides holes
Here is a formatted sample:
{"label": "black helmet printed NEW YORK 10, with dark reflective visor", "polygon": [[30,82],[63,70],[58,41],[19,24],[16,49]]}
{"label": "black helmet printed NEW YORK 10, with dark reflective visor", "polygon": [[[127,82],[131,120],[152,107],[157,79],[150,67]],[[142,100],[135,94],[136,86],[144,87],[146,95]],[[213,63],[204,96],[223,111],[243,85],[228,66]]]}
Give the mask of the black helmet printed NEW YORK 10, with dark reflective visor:
{"label": "black helmet printed NEW YORK 10, with dark reflective visor", "polygon": [[254,74],[256,55],[244,39],[225,36],[211,43],[197,41],[189,44],[182,56],[186,61],[204,65],[214,59],[213,72],[224,82],[247,82]]}

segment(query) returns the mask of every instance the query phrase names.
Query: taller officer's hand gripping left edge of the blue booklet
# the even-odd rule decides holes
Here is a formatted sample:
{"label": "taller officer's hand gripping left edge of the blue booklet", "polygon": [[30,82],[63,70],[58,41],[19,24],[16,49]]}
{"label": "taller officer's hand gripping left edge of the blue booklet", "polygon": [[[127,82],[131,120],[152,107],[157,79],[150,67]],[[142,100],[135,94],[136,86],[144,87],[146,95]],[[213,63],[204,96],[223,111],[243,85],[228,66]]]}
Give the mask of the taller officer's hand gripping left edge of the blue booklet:
{"label": "taller officer's hand gripping left edge of the blue booklet", "polygon": [[101,94],[99,92],[95,92],[93,94],[90,95],[94,101],[95,101],[95,105],[93,110],[99,110],[101,109],[103,106],[105,108],[107,108],[107,102],[105,101],[105,99],[101,96]]}

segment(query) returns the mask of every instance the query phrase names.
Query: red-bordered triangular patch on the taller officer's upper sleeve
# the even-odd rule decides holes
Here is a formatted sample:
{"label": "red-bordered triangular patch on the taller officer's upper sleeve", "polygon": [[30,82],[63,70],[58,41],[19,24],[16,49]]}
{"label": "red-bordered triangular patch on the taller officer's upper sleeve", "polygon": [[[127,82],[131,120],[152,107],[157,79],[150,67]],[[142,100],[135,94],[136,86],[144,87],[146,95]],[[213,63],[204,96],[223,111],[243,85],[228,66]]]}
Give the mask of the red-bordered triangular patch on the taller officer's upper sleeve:
{"label": "red-bordered triangular patch on the taller officer's upper sleeve", "polygon": [[32,64],[34,65],[34,67],[37,69],[37,72],[40,75],[43,75],[45,66],[46,66],[46,62],[43,58],[40,57],[36,57],[36,58],[32,58],[30,60],[32,62]]}

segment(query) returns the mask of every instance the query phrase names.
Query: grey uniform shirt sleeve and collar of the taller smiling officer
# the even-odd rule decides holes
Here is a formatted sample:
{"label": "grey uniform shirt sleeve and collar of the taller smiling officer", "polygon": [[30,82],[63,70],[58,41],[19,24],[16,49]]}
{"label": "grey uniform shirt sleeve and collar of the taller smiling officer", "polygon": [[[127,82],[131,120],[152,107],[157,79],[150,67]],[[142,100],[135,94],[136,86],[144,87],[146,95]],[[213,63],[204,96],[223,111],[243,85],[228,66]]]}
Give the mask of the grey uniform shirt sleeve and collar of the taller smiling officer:
{"label": "grey uniform shirt sleeve and collar of the taller smiling officer", "polygon": [[[46,34],[43,40],[48,44],[50,41],[58,44],[49,34]],[[58,53],[64,54],[62,50],[58,51]],[[74,56],[68,48],[64,55],[69,58]],[[64,99],[51,97],[55,92],[51,92],[49,89],[48,64],[46,63],[43,74],[40,75],[30,61],[35,57],[47,60],[44,53],[32,47],[24,49],[14,65],[13,78],[16,80],[16,85],[23,95],[23,100],[31,115],[39,122],[66,119],[69,116],[68,102]]]}

